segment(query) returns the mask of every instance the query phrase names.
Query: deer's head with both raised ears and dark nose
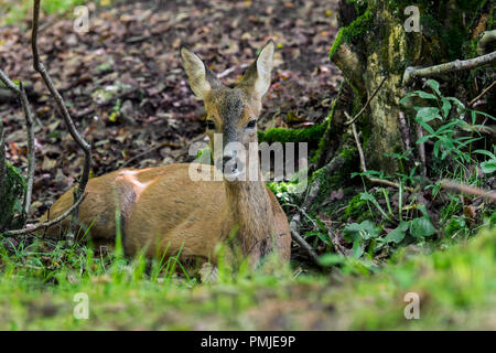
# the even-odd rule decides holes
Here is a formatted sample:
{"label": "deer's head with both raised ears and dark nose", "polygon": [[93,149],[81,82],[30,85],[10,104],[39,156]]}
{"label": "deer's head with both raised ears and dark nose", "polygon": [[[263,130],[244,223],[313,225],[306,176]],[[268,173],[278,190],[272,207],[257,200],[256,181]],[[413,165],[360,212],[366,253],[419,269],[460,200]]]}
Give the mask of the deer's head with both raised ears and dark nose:
{"label": "deer's head with both raised ears and dark nose", "polygon": [[[181,58],[190,79],[193,93],[205,104],[207,113],[206,133],[211,149],[216,156],[223,156],[216,165],[224,165],[226,176],[236,176],[245,168],[246,158],[239,151],[249,151],[250,142],[258,143],[257,119],[261,110],[261,98],[270,87],[272,71],[273,41],[267,42],[255,62],[249,66],[241,82],[230,88],[188,47],[181,47]],[[224,152],[214,150],[214,135],[222,136]],[[218,148],[217,148],[218,149]]]}

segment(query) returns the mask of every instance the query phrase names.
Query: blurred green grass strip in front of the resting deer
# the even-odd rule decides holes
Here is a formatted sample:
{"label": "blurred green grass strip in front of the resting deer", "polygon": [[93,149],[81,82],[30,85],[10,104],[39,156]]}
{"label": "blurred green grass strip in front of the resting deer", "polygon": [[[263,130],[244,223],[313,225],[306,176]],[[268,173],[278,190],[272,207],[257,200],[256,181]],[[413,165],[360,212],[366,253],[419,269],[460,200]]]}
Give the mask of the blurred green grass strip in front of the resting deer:
{"label": "blurred green grass strip in front of the resting deer", "polygon": [[[355,275],[360,263],[346,259],[331,275],[220,268],[213,285],[174,269],[174,259],[44,246],[0,247],[1,330],[496,329],[496,228],[432,254],[400,249],[375,275]],[[403,317],[410,291],[419,320]],[[88,320],[73,315],[79,292]]]}

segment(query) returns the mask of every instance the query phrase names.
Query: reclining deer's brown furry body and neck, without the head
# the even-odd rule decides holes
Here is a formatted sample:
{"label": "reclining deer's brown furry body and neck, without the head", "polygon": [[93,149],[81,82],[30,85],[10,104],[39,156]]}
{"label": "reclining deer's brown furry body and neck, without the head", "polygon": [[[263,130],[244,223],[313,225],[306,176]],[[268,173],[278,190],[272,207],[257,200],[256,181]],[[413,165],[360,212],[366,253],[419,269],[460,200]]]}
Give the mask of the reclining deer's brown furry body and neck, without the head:
{"label": "reclining deer's brown furry body and neck, without the head", "polygon": [[[149,257],[168,247],[168,255],[174,256],[182,247],[181,254],[185,258],[201,257],[215,263],[217,244],[239,226],[241,248],[254,260],[266,255],[260,252],[260,246],[263,240],[269,244],[267,246],[271,245],[270,234],[273,234],[281,258],[289,259],[288,220],[263,182],[229,185],[219,181],[194,182],[188,178],[188,168],[190,164],[179,163],[119,170],[90,179],[87,196],[79,207],[79,220],[86,226],[95,221],[89,229],[91,239],[111,245],[116,236],[118,201],[125,217],[125,252],[129,256],[144,247],[148,247]],[[116,197],[116,191],[122,196]],[[72,203],[73,190],[69,190],[52,205],[50,218],[61,215]],[[46,214],[41,221],[46,221]],[[67,228],[68,220],[61,225]],[[47,234],[60,232],[54,226]]]}

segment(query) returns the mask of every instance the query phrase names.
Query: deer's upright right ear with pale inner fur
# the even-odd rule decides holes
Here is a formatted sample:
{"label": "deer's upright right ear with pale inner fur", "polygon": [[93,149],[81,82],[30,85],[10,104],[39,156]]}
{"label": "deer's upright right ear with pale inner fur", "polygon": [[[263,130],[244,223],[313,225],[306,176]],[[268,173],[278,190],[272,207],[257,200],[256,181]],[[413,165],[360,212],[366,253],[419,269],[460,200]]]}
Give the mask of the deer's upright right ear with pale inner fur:
{"label": "deer's upright right ear with pale inner fur", "polygon": [[262,97],[270,87],[270,75],[272,73],[272,56],[274,51],[273,41],[263,45],[257,60],[248,68],[242,77],[241,84],[248,86],[258,97]]}

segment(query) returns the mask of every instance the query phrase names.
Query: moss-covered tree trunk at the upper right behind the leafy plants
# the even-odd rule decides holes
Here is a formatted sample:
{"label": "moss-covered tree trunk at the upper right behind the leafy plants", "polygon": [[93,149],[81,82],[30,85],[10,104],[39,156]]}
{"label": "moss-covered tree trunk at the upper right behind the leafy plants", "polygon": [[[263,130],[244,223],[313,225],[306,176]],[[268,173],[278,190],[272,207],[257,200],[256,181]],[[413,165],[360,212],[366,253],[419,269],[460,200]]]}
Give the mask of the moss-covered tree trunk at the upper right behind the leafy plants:
{"label": "moss-covered tree trunk at the upper right behind the leafy plants", "polygon": [[[396,160],[384,153],[405,150],[399,100],[407,90],[419,88],[403,85],[405,69],[408,66],[431,66],[477,56],[475,46],[478,35],[494,29],[492,2],[341,1],[341,30],[330,57],[353,88],[353,113],[357,113],[365,105],[382,78],[387,77],[377,96],[370,101],[368,111],[358,120],[368,169],[386,172],[398,170]],[[418,32],[407,32],[405,26],[410,17],[405,14],[405,9],[412,4],[420,14]],[[492,83],[494,76],[489,76],[487,71],[473,69],[445,76],[441,82],[446,95],[462,98],[465,95],[468,99]],[[474,81],[478,88],[474,87]],[[488,101],[494,100],[494,94],[492,95]],[[407,120],[407,125],[414,145],[417,138],[413,124]]]}

